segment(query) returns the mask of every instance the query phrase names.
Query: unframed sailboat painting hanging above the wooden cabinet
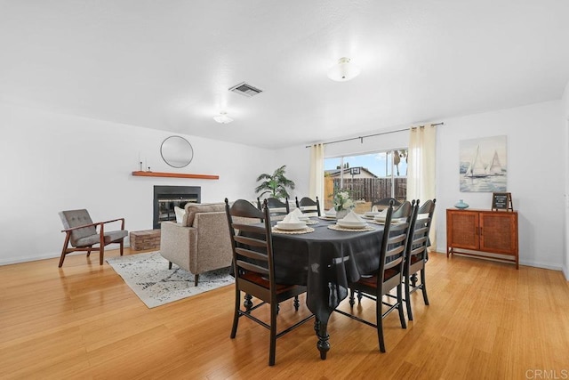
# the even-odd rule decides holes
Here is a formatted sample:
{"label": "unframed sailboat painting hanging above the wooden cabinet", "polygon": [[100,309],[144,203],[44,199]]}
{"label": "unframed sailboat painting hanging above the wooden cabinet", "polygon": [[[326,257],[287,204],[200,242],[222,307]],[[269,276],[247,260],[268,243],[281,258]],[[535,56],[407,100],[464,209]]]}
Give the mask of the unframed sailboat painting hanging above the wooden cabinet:
{"label": "unframed sailboat painting hanging above the wooden cabinet", "polygon": [[506,191],[506,136],[461,141],[461,192]]}

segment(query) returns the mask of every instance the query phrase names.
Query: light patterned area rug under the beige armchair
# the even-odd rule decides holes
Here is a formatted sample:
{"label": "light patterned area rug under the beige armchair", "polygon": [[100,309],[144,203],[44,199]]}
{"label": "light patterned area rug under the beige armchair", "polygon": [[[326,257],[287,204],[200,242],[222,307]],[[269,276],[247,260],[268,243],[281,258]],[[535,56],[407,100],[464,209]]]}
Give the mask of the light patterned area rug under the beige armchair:
{"label": "light patterned area rug under the beige armchair", "polygon": [[172,269],[169,270],[168,260],[159,252],[109,257],[107,263],[148,308],[234,283],[233,277],[229,275],[229,268],[223,268],[200,274],[195,287],[193,274],[175,264],[172,264]]}

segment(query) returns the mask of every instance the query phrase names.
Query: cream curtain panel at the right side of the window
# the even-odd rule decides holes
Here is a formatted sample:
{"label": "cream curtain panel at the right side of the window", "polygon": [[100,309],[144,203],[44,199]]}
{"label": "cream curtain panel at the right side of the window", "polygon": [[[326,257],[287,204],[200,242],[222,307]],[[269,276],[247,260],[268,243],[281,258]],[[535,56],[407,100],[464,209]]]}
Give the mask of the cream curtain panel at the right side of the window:
{"label": "cream curtain panel at the right side of the window", "polygon": [[[407,158],[407,199],[419,199],[421,204],[436,197],[437,127],[412,127]],[[433,216],[430,228],[431,249],[437,248],[436,222]]]}

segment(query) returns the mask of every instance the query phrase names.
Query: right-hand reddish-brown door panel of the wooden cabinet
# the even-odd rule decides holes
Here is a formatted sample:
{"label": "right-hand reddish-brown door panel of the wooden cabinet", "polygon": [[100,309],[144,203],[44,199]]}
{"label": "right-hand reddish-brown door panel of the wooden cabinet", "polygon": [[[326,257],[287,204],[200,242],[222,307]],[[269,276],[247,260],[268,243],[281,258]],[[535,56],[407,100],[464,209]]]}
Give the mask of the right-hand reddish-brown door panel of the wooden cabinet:
{"label": "right-hand reddish-brown door panel of the wooden cabinet", "polygon": [[517,214],[480,213],[480,250],[517,255]]}

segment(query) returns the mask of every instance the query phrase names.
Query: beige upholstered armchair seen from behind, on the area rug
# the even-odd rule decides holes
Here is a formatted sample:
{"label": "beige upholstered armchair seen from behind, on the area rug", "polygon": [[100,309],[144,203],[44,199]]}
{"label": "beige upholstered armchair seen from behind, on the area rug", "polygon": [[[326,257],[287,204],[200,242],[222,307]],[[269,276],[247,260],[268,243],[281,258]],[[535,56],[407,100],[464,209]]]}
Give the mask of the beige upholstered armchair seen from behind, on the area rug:
{"label": "beige upholstered armchair seen from behind, on the area rug", "polygon": [[182,221],[162,222],[160,255],[194,274],[194,285],[200,273],[231,265],[225,205],[188,203]]}

